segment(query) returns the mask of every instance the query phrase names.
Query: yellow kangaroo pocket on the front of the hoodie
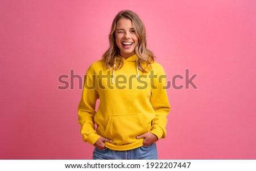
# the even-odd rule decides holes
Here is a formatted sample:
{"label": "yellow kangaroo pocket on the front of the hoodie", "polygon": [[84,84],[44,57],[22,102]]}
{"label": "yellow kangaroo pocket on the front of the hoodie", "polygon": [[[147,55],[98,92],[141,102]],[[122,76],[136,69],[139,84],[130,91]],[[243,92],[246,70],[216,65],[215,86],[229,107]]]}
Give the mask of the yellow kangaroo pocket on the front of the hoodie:
{"label": "yellow kangaroo pocket on the front of the hoodie", "polygon": [[110,115],[105,135],[115,145],[130,144],[137,141],[137,135],[150,131],[150,127],[141,113]]}

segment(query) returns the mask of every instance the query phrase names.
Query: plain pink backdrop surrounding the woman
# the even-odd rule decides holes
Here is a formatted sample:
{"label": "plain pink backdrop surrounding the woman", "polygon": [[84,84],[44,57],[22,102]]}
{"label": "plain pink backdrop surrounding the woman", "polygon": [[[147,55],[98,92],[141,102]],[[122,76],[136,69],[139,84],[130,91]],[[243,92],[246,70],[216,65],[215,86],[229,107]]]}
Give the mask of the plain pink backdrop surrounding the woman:
{"label": "plain pink backdrop surrounding the woman", "polygon": [[123,9],[141,16],[167,80],[198,74],[199,89],[167,90],[159,159],[256,159],[253,0],[0,1],[0,159],[91,159],[77,123],[79,80],[58,90],[58,77],[83,76],[101,59]]}

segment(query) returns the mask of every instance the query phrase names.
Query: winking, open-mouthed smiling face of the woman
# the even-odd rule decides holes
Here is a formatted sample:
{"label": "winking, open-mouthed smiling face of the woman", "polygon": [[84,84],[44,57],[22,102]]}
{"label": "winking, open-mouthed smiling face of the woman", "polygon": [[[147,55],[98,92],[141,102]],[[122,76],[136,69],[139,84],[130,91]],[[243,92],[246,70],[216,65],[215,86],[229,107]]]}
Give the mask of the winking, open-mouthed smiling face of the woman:
{"label": "winking, open-mouthed smiling face of the woman", "polygon": [[123,58],[127,59],[135,54],[135,47],[138,45],[138,36],[130,19],[122,18],[117,21],[115,43]]}

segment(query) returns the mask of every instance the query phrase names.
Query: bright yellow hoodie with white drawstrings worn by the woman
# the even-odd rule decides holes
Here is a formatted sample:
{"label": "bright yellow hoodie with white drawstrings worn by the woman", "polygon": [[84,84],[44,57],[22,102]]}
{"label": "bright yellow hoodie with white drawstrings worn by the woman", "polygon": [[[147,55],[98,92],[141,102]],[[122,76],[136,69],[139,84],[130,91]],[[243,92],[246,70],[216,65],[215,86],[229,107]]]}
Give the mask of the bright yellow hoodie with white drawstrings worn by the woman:
{"label": "bright yellow hoodie with white drawstrings worn by the woman", "polygon": [[166,136],[170,105],[164,70],[154,62],[152,70],[143,73],[136,61],[137,55],[124,59],[119,70],[107,69],[103,60],[90,65],[78,108],[84,141],[93,145],[102,136],[113,140],[105,142],[109,149],[126,151],[142,146],[143,139],[136,136],[143,133]]}

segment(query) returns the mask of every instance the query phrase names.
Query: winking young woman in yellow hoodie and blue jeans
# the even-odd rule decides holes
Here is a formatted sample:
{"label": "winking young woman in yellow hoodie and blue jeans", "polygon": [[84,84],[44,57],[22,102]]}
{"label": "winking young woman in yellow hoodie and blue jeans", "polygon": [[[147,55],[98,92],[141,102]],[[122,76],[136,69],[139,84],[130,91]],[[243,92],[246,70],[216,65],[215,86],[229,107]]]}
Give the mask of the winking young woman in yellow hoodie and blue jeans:
{"label": "winking young woman in yellow hoodie and blue jeans", "polygon": [[78,111],[82,137],[95,146],[93,159],[158,159],[155,143],[166,136],[170,111],[164,70],[146,47],[135,12],[115,16],[109,41],[102,60],[85,74]]}

